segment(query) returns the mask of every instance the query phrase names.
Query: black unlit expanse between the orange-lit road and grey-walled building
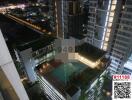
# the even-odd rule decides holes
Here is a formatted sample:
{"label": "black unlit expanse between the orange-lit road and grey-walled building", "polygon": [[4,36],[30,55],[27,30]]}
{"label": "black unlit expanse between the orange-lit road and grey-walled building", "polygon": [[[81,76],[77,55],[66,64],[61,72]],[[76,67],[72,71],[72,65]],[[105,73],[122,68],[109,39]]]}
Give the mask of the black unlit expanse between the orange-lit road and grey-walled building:
{"label": "black unlit expanse between the orange-lit road and grey-walled building", "polygon": [[52,35],[40,35],[39,33],[16,23],[2,14],[0,14],[0,21],[2,33],[7,36],[10,44],[16,45],[16,48],[20,51],[30,47],[33,51],[37,50],[51,44],[55,39]]}

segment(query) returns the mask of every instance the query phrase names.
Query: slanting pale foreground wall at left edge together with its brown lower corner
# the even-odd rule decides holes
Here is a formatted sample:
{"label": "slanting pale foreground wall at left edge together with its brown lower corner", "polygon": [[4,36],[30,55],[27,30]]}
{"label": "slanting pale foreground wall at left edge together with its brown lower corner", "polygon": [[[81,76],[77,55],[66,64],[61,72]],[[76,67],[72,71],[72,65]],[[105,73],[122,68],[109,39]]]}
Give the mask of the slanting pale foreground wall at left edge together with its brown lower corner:
{"label": "slanting pale foreground wall at left edge together with its brown lower corner", "polygon": [[29,100],[1,30],[0,48],[0,93],[2,93],[2,98],[4,100]]}

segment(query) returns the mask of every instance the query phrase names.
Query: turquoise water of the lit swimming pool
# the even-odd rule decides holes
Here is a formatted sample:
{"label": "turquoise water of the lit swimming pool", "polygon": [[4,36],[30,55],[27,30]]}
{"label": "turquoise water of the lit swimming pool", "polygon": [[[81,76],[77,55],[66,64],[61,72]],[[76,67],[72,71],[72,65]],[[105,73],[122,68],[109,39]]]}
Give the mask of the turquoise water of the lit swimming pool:
{"label": "turquoise water of the lit swimming pool", "polygon": [[60,65],[51,73],[53,76],[57,77],[60,81],[66,84],[70,80],[70,77],[72,77],[72,75],[78,74],[86,67],[87,66],[81,62],[68,62]]}

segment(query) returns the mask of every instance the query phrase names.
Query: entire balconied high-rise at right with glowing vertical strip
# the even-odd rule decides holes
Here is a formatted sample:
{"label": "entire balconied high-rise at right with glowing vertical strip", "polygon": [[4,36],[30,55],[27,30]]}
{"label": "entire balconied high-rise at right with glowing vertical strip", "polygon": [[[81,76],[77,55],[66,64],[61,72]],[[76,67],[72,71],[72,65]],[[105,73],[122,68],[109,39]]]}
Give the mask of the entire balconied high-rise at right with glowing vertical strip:
{"label": "entire balconied high-rise at right with glowing vertical strip", "polygon": [[[85,0],[87,42],[108,52],[110,73],[122,73],[131,53],[131,0]],[[85,7],[85,6],[84,6]]]}

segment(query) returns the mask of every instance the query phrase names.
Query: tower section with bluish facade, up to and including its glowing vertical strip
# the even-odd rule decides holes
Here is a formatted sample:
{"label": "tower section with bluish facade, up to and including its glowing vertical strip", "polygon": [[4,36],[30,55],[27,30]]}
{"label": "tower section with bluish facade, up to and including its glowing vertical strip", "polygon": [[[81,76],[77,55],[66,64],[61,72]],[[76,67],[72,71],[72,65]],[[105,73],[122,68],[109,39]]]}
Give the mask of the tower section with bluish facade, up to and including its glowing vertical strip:
{"label": "tower section with bluish facade, up to and including its glowing vertical strip", "polygon": [[[114,1],[114,0],[113,0]],[[88,11],[88,19],[85,25],[87,42],[106,50],[109,33],[114,14],[114,2],[112,0],[85,0],[84,7]],[[107,38],[105,38],[107,36]]]}

